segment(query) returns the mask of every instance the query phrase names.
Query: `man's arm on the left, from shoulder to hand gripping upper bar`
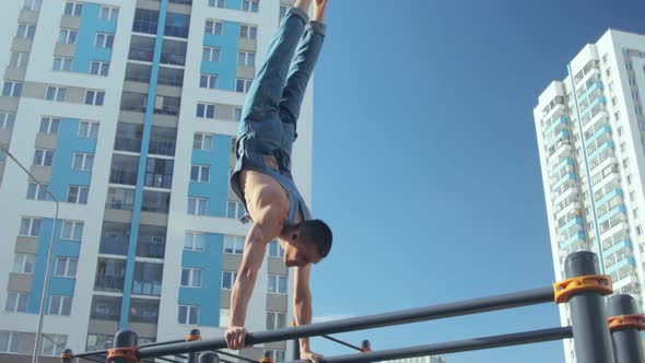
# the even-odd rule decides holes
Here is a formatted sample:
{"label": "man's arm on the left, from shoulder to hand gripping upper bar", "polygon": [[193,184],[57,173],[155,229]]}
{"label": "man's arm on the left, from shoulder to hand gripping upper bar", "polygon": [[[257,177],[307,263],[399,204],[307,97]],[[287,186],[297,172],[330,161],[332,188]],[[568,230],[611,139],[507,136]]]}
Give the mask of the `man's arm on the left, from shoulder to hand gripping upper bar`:
{"label": "man's arm on the left, from shoulder to hand gripping upper bar", "polygon": [[226,343],[231,349],[245,347],[246,308],[256,284],[258,271],[265,258],[267,244],[280,234],[282,222],[278,210],[272,207],[266,208],[259,213],[256,221],[246,236],[242,264],[237,270],[237,278],[231,294],[231,321],[224,333]]}

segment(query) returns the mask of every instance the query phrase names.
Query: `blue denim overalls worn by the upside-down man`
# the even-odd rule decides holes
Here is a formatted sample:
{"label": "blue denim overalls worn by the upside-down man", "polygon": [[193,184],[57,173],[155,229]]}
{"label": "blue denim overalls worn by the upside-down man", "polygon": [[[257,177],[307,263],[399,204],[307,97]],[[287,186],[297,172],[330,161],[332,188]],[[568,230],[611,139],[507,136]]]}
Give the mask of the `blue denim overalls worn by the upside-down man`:
{"label": "blue denim overalls worn by the upside-down man", "polygon": [[237,130],[237,163],[231,186],[246,203],[239,172],[265,173],[286,191],[291,208],[288,225],[300,211],[312,219],[291,175],[291,153],[297,138],[301,104],[325,40],[325,24],[308,21],[307,14],[292,8],[273,35],[265,63],[254,80]]}

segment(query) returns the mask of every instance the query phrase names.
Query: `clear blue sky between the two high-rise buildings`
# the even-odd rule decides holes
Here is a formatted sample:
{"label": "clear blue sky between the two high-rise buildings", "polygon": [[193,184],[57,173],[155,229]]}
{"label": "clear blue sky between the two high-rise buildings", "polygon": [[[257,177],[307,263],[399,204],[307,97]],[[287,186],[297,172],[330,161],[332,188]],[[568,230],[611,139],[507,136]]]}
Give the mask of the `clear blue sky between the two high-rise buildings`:
{"label": "clear blue sky between the two high-rise buildings", "polygon": [[[313,271],[315,316],[550,285],[532,108],[608,27],[645,34],[643,1],[329,2],[313,209],[335,245]],[[548,304],[339,337],[387,349],[558,325]],[[444,356],[564,362],[560,342]]]}

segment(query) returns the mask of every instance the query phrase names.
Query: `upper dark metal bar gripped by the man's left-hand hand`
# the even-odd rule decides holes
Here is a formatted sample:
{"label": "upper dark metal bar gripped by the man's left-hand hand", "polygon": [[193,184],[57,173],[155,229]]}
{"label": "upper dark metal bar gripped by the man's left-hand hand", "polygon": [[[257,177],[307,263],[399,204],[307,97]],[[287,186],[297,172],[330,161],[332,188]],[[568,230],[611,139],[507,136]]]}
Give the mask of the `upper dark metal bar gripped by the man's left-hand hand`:
{"label": "upper dark metal bar gripped by the man's left-hand hand", "polygon": [[[282,341],[296,338],[316,337],[326,333],[371,329],[391,325],[402,325],[423,320],[433,320],[459,315],[469,315],[499,311],[518,306],[553,302],[553,288],[527,290],[509,294],[483,298],[473,298],[456,303],[447,303],[427,307],[412,308],[392,313],[385,313],[355,318],[301,325],[283,329],[249,332],[246,335],[246,346]],[[226,348],[224,338],[211,338],[196,341],[184,341],[161,347],[145,347],[139,349],[137,356],[154,358],[163,355],[199,352]]]}

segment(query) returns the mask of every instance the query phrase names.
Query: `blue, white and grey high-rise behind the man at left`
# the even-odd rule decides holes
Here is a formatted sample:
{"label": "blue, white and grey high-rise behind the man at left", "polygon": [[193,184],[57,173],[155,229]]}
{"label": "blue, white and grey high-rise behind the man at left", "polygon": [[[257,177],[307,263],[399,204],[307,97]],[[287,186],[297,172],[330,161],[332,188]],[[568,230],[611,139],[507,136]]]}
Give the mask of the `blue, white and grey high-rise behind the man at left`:
{"label": "blue, white and grey high-rise behind the man at left", "polygon": [[[228,186],[245,93],[293,0],[14,0],[0,17],[0,361],[222,337],[248,224]],[[293,171],[310,200],[313,94]],[[54,232],[52,232],[54,227]],[[247,329],[284,327],[293,277],[273,242]],[[278,361],[288,343],[244,351]],[[47,359],[45,359],[46,361]],[[58,361],[58,360],[52,360]]]}

